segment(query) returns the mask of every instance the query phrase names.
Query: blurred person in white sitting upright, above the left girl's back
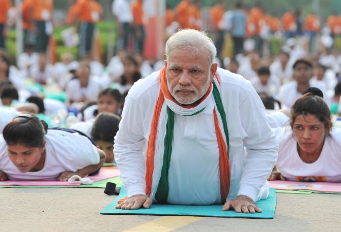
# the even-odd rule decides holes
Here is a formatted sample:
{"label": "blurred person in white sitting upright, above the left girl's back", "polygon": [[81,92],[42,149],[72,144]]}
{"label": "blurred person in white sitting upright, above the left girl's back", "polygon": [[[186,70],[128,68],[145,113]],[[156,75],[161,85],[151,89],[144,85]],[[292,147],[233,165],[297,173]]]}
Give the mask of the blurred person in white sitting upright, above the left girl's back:
{"label": "blurred person in white sitting upright, above the left girl's back", "polygon": [[71,103],[96,101],[101,87],[90,77],[90,64],[87,60],[79,61],[76,76],[66,84],[65,92]]}

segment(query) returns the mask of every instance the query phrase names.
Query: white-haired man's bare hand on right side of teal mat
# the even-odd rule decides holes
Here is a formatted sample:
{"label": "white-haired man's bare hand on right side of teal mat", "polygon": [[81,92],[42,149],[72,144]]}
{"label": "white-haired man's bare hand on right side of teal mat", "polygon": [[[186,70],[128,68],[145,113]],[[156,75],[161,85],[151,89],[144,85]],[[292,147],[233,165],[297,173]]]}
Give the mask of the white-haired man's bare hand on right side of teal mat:
{"label": "white-haired man's bare hand on right side of teal mat", "polygon": [[245,195],[238,195],[235,200],[227,201],[222,206],[222,211],[234,209],[236,213],[262,213],[262,210],[254,204],[254,201]]}

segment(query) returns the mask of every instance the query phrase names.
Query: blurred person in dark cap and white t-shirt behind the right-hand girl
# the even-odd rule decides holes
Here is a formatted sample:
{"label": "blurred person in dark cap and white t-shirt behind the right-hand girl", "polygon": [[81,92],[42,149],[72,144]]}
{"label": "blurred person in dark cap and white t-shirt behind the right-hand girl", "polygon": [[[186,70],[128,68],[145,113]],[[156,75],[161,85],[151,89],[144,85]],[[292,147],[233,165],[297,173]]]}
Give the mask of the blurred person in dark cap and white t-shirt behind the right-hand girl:
{"label": "blurred person in dark cap and white t-shirt behind the right-hand girl", "polygon": [[278,90],[277,100],[282,105],[290,108],[308,87],[317,87],[326,95],[326,84],[323,81],[310,82],[312,77],[310,61],[298,59],[293,65],[293,70],[294,81],[282,85]]}

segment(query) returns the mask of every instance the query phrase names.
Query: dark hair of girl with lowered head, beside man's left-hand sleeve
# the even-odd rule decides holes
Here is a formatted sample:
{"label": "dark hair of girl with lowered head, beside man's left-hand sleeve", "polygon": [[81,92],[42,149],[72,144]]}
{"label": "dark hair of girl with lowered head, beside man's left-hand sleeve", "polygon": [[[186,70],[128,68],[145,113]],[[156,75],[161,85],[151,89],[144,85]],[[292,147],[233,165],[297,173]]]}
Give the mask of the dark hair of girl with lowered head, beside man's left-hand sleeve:
{"label": "dark hair of girl with lowered head, beside man's left-hand sleeve", "polygon": [[119,130],[120,121],[121,118],[115,114],[100,113],[92,127],[91,138],[95,141],[112,142]]}

